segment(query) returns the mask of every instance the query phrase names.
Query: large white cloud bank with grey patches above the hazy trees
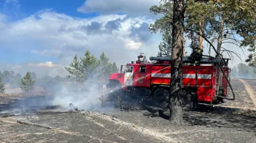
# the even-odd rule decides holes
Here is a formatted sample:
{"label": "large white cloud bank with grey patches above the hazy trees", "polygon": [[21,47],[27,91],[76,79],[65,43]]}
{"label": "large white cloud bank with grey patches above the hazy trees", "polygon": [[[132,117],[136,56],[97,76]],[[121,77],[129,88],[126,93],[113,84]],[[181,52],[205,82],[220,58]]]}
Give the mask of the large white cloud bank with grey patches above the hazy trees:
{"label": "large white cloud bank with grey patches above the hazy trees", "polygon": [[[103,15],[82,19],[52,10],[41,10],[19,21],[4,21],[5,27],[0,28],[0,46],[57,57],[57,67],[48,66],[44,69],[43,64],[38,67],[33,63],[32,66],[23,65],[19,68],[24,72],[28,67],[32,71],[38,68],[35,70],[41,75],[47,73],[54,76],[58,72],[66,74],[63,66],[68,66],[75,54],[83,56],[87,49],[97,57],[104,51],[110,61],[116,61],[118,65],[136,60],[140,52],[148,57],[157,54],[161,37],[148,31],[149,23],[153,23],[152,19],[140,16],[130,18],[127,15]],[[41,72],[39,69],[48,71]]]}

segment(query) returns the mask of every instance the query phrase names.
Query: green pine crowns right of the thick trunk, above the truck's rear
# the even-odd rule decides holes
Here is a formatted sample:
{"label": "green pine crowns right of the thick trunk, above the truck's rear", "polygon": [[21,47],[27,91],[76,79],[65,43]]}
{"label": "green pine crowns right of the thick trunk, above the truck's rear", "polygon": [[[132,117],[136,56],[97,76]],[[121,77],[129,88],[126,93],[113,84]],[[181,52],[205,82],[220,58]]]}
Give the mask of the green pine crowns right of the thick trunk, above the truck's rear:
{"label": "green pine crowns right of the thick trunk, above the truck's rear", "polygon": [[[189,1],[187,5],[188,19],[185,29],[193,29],[193,32],[199,34],[200,24],[204,21],[202,36],[211,43],[216,42],[218,53],[227,52],[230,58],[233,58],[233,54],[240,57],[239,54],[227,50],[222,45],[230,43],[244,49],[255,43],[253,33],[255,33],[256,19],[252,16],[255,15],[254,1]],[[238,35],[243,39],[236,38]]]}

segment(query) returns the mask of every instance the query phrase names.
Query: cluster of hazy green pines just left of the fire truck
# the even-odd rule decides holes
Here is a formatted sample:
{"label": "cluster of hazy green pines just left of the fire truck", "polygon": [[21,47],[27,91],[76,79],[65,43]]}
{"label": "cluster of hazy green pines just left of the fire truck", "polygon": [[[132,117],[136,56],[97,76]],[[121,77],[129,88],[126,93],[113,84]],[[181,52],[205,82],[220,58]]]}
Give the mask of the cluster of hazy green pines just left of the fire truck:
{"label": "cluster of hazy green pines just left of the fire truck", "polygon": [[104,52],[97,58],[89,50],[85,52],[84,57],[80,57],[80,60],[75,55],[73,63],[69,66],[69,68],[65,67],[69,76],[73,77],[76,83],[81,84],[88,80],[94,83],[97,81],[99,85],[104,84],[110,74],[118,72],[115,61],[111,63]]}

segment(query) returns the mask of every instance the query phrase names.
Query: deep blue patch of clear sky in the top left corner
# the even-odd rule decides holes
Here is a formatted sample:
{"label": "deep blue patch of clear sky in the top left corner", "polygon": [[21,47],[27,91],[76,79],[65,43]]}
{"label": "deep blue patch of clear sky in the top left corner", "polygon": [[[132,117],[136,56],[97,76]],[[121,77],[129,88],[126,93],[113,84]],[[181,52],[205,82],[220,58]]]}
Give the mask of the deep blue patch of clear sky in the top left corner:
{"label": "deep blue patch of clear sky in the top left corner", "polygon": [[[26,16],[33,15],[38,10],[54,9],[58,13],[65,13],[66,15],[75,16],[79,18],[87,18],[91,16],[97,16],[98,13],[80,13],[77,12],[77,7],[84,4],[85,0],[19,0],[13,4],[13,2],[6,2],[1,0],[0,7],[1,13],[12,16],[12,20],[25,18]],[[18,15],[16,12],[19,12]]]}

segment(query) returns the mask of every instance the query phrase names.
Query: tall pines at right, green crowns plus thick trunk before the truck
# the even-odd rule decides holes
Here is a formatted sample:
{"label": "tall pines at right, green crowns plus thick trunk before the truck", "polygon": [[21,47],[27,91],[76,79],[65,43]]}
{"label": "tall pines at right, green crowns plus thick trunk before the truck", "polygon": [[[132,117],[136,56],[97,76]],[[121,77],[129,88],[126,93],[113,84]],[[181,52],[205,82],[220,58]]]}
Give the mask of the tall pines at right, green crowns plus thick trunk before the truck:
{"label": "tall pines at right, green crowns plus thick trunk before the truck", "polygon": [[[229,57],[236,52],[223,46],[231,43],[242,49],[250,46],[255,52],[255,1],[252,0],[160,0],[160,5],[152,5],[150,11],[162,14],[162,18],[151,24],[152,32],[163,33],[163,39],[171,41],[171,120],[182,123],[180,100],[181,57],[185,48],[185,38],[191,47],[202,48],[202,39],[210,44],[216,57],[227,52]],[[170,30],[171,29],[171,30]],[[237,38],[240,36],[241,38]],[[164,40],[165,41],[165,40]],[[163,45],[163,44],[162,44]],[[161,46],[160,47],[164,47]],[[160,50],[161,52],[161,50]],[[239,55],[238,55],[239,57]],[[249,55],[249,65],[255,65],[255,53]]]}

